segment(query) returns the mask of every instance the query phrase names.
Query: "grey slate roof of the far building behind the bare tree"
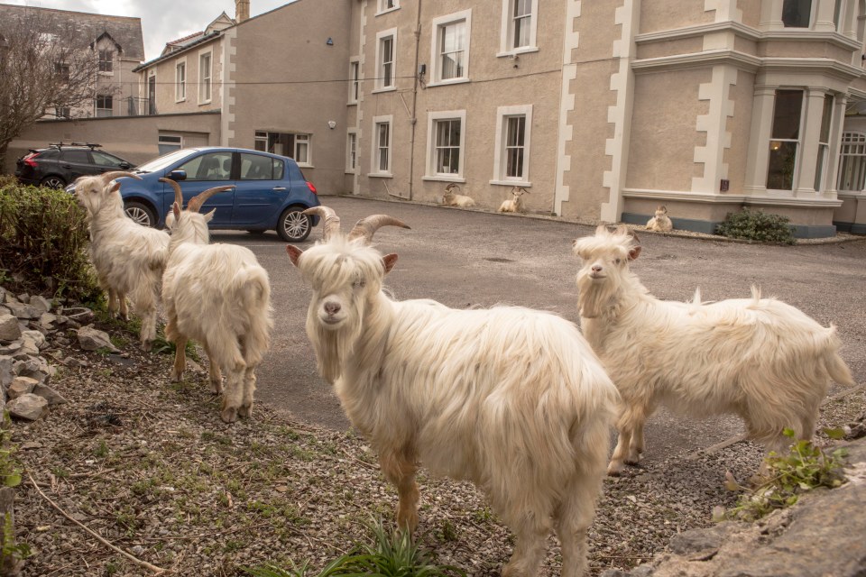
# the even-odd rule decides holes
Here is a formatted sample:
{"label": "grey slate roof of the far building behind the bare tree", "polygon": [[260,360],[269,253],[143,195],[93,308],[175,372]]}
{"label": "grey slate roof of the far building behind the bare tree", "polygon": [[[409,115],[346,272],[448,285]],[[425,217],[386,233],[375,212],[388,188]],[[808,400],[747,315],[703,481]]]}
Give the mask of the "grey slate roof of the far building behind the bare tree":
{"label": "grey slate roof of the far building behind the bare tree", "polygon": [[42,17],[51,19],[59,26],[73,25],[88,42],[96,41],[107,32],[122,50],[121,56],[132,60],[144,60],[144,39],[142,19],[129,16],[109,16],[35,6],[0,4],[0,21],[21,21],[26,14],[38,12]]}

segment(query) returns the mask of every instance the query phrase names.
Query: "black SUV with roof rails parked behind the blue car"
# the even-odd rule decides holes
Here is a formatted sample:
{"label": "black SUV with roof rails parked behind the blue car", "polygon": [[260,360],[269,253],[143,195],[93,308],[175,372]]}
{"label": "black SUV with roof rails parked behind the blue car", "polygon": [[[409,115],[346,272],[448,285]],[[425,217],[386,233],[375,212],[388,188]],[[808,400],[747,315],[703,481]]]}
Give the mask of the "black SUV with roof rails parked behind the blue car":
{"label": "black SUV with roof rails parked behind the blue car", "polygon": [[23,184],[63,188],[80,176],[133,168],[132,162],[98,148],[99,144],[60,142],[31,149],[15,163],[15,177]]}

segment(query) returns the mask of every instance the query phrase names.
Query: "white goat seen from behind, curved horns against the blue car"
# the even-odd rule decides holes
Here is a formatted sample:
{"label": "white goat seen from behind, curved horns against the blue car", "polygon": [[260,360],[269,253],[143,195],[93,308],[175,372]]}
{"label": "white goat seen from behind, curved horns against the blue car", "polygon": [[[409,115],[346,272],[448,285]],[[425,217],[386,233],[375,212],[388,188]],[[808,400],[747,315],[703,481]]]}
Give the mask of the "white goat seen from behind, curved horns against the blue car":
{"label": "white goat seen from behind, curved horns against the blue car", "polygon": [[162,280],[162,301],[168,323],[166,338],[175,343],[171,380],[180,381],[186,367],[189,339],[202,343],[210,362],[210,384],[226,392],[220,417],[231,423],[253,415],[255,369],[271,342],[271,285],[268,273],[252,251],[234,244],[208,244],[207,223],[214,211],[198,214],[207,198],[232,187],[209,188],[180,210],[180,186],[167,224],[171,227],[169,261]]}

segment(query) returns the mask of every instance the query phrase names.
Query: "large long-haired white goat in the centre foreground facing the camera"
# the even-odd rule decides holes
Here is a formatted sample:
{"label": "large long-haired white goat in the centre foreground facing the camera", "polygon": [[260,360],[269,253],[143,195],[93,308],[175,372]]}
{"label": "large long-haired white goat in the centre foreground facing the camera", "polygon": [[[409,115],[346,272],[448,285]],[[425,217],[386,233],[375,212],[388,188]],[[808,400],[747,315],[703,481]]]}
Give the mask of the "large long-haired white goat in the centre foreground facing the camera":
{"label": "large long-haired white goat in the centre foreground facing the camera", "polygon": [[392,300],[382,281],[397,255],[368,244],[382,225],[408,226],[373,215],[346,236],[330,208],[306,213],[325,217],[325,241],[286,251],[313,289],[307,334],[398,490],[398,525],[418,524],[424,463],[473,481],[517,535],[503,575],[535,574],[551,522],[562,574],[582,574],[618,395],[576,325],[519,307]]}

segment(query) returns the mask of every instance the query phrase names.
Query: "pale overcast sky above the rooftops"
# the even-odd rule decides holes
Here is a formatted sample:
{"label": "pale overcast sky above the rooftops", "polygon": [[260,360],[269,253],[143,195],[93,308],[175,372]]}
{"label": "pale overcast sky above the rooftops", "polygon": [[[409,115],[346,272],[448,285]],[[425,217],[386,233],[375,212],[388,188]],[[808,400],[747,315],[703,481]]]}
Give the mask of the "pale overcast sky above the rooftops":
{"label": "pale overcast sky above the rooftops", "polygon": [[[290,4],[291,1],[251,0],[250,16]],[[147,60],[157,58],[167,41],[203,31],[223,11],[235,17],[235,0],[2,0],[0,4],[141,18]]]}

